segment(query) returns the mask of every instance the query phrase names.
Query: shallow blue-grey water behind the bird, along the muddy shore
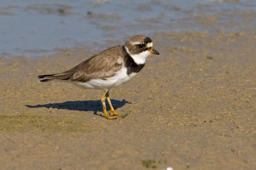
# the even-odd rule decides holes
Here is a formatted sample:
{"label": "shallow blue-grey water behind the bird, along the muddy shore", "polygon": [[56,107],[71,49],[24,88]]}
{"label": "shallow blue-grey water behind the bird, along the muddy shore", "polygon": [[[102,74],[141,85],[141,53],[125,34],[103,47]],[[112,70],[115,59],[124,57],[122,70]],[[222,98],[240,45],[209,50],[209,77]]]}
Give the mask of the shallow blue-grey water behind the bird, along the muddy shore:
{"label": "shallow blue-grey water behind the bird, along the muddy shore", "polygon": [[0,56],[35,58],[65,47],[104,49],[135,34],[240,30],[255,27],[255,9],[253,0],[2,0]]}

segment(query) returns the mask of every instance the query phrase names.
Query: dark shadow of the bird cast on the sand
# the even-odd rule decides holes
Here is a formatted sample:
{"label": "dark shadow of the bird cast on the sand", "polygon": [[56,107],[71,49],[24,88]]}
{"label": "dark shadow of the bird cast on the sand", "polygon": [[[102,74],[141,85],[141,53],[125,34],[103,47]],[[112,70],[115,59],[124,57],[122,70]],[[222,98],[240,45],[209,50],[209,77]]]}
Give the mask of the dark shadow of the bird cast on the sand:
{"label": "dark shadow of the bird cast on the sand", "polygon": [[[126,103],[132,104],[126,100],[115,100],[112,99],[111,103],[115,109],[119,107],[123,107]],[[107,110],[110,110],[108,103],[106,101]],[[25,105],[29,108],[39,108],[39,107],[46,107],[46,108],[55,108],[55,109],[66,109],[66,110],[78,110],[78,111],[93,111],[94,115],[98,115],[103,117],[101,114],[97,112],[103,112],[101,100],[85,100],[85,101],[65,101],[63,103],[48,103],[48,104],[37,104],[37,105]]]}

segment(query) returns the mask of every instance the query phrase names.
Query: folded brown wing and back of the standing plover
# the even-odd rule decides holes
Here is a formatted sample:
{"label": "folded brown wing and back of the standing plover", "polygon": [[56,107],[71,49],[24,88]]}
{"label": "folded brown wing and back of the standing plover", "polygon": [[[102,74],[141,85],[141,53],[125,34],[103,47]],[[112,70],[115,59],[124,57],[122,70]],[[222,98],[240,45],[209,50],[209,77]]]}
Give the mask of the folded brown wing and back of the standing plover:
{"label": "folded brown wing and back of the standing plover", "polygon": [[[123,46],[115,46],[100,52],[88,60],[78,64],[73,69],[62,73],[49,75],[46,80],[69,80],[86,82],[91,79],[102,79],[112,77],[123,66]],[[43,81],[43,80],[42,80]]]}

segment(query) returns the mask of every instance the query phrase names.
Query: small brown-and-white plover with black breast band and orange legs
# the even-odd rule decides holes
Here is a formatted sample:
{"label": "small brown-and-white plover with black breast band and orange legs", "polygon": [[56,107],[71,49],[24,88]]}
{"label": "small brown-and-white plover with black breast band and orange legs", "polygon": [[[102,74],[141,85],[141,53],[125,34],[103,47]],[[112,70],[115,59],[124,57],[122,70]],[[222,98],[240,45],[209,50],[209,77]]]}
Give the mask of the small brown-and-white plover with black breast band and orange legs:
{"label": "small brown-and-white plover with black breast band and orange legs", "polygon": [[[135,77],[144,67],[146,58],[151,53],[159,55],[157,50],[153,49],[151,38],[135,35],[123,46],[110,47],[91,56],[73,69],[51,75],[39,75],[38,78],[43,78],[40,82],[63,81],[84,89],[104,90],[101,96],[104,116],[107,119],[113,119],[113,115],[118,117],[122,115],[113,108],[108,94],[109,90]],[[107,114],[105,98],[110,106],[110,115]]]}

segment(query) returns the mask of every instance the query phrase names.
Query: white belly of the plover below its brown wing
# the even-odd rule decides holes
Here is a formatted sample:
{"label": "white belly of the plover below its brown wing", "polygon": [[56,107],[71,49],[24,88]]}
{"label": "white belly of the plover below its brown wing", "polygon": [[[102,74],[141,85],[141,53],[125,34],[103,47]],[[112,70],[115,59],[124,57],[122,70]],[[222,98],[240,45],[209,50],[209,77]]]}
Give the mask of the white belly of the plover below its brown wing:
{"label": "white belly of the plover below its brown wing", "polygon": [[113,77],[106,78],[106,80],[92,79],[85,83],[82,83],[82,82],[72,82],[72,83],[83,89],[107,90],[107,89],[111,89],[112,87],[119,86],[123,83],[126,83],[127,81],[135,77],[135,75],[137,75],[137,73],[131,73],[130,75],[127,75],[127,69],[126,67],[123,67],[121,70],[116,72],[116,74]]}

